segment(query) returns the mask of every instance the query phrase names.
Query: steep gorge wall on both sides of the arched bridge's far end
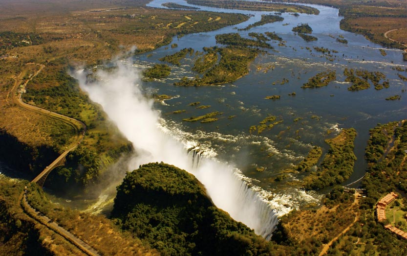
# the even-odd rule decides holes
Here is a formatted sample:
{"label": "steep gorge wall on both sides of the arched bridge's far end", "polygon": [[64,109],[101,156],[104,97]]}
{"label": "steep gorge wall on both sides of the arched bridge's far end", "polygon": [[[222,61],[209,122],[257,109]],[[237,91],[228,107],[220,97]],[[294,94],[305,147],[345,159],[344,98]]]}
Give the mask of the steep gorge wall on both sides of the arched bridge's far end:
{"label": "steep gorge wall on both sides of the arched bridge's far end", "polygon": [[[60,154],[49,145],[30,145],[0,129],[0,162],[19,171],[24,179],[32,180],[52,163]],[[66,156],[64,166],[53,170],[46,186],[56,193],[78,195],[88,184],[97,183],[109,166],[123,155],[129,155],[133,148],[129,142],[113,144],[108,150],[95,152],[86,145],[80,145]],[[62,189],[63,188],[63,189]]]}

